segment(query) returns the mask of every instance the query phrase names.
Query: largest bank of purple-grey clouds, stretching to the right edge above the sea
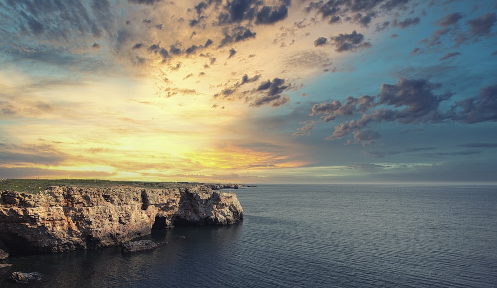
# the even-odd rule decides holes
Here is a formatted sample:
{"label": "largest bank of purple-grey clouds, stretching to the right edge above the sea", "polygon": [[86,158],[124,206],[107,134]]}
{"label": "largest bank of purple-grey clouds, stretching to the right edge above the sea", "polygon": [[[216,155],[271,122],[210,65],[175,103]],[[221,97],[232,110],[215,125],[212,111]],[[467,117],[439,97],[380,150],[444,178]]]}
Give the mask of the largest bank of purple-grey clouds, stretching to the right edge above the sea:
{"label": "largest bank of purple-grey clouds, stretching to the right edge above the sea", "polygon": [[[333,134],[325,138],[327,140],[339,139],[356,131],[367,131],[370,124],[379,122],[473,124],[497,121],[497,85],[482,88],[479,96],[457,101],[447,111],[440,111],[439,106],[441,102],[449,100],[452,93],[435,94],[434,91],[440,88],[441,84],[427,80],[399,79],[395,85],[382,84],[376,96],[361,96],[362,108],[358,101],[361,98],[348,96],[345,105],[337,100],[315,104],[310,115],[322,115],[321,118],[327,122],[336,119],[337,115],[362,113],[362,117],[357,120],[335,126]],[[360,142],[360,139],[356,141]]]}

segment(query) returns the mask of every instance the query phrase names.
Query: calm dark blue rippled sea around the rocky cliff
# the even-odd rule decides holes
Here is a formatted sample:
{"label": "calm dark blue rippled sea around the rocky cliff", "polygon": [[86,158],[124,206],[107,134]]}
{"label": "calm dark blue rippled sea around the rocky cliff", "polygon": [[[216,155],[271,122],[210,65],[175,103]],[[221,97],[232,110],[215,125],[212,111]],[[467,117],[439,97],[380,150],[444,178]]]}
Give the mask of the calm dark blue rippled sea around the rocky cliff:
{"label": "calm dark blue rippled sea around the rocky cliff", "polygon": [[[165,243],[133,254],[12,257],[0,287],[497,287],[497,186],[229,191],[239,224],[153,230],[145,239]],[[12,271],[41,279],[15,284]]]}

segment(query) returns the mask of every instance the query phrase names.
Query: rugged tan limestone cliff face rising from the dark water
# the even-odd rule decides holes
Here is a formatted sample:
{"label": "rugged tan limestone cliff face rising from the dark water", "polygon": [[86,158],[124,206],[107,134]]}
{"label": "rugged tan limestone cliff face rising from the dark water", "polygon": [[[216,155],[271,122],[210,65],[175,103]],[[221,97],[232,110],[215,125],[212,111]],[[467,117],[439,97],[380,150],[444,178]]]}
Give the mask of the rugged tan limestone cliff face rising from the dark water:
{"label": "rugged tan limestone cliff face rising from the dark water", "polygon": [[206,186],[142,189],[53,186],[0,192],[0,240],[10,253],[66,252],[121,244],[178,225],[243,219],[234,193]]}

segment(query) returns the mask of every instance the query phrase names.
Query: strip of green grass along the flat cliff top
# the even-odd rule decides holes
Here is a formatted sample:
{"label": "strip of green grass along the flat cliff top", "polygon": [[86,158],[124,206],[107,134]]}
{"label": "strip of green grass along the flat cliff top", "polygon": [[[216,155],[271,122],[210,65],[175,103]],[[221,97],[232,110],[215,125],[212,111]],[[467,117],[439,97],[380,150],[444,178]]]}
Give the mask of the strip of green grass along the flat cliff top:
{"label": "strip of green grass along the flat cliff top", "polygon": [[18,192],[37,193],[46,190],[50,186],[70,186],[80,188],[108,188],[111,186],[132,186],[146,189],[180,188],[199,183],[187,182],[132,182],[132,181],[109,181],[98,179],[0,179],[0,191],[14,190]]}

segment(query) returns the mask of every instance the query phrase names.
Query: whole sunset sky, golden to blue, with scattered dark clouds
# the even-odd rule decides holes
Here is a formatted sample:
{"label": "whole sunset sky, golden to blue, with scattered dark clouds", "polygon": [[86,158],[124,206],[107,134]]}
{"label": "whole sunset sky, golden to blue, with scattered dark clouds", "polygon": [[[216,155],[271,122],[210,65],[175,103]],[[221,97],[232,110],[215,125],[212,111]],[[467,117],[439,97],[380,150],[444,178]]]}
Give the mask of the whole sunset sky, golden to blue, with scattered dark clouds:
{"label": "whole sunset sky, golden to blue, with scattered dark clouds", "polygon": [[495,0],[0,0],[0,178],[497,183]]}

